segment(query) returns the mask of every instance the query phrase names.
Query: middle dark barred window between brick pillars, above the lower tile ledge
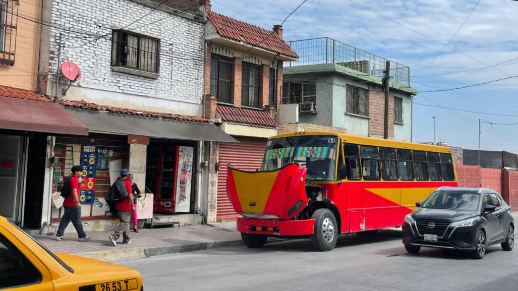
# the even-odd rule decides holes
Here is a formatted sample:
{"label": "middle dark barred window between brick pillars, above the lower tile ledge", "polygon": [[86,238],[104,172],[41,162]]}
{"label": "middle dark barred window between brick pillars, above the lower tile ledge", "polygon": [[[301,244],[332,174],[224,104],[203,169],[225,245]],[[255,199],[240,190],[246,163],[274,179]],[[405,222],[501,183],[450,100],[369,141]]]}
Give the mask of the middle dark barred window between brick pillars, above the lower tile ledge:
{"label": "middle dark barred window between brick pillars, above the lower tile ledge", "polygon": [[241,70],[241,105],[259,108],[263,94],[262,66],[243,62]]}

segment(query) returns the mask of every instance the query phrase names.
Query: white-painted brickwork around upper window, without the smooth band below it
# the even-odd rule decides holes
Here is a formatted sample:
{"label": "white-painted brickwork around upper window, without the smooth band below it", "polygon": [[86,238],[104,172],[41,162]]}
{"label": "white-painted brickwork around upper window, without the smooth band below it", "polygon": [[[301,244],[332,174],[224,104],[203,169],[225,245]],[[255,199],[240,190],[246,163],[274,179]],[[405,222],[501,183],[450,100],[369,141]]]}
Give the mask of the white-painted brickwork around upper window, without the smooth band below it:
{"label": "white-painted brickwork around upper window, without the smooth band below it", "polygon": [[[204,24],[201,22],[171,16],[156,9],[128,28],[161,39],[160,77],[151,79],[111,70],[112,28],[122,28],[151,9],[128,0],[54,0],[52,24],[81,32],[61,31],[62,45],[65,46],[61,53],[62,61],[69,60],[79,65],[83,72],[79,82],[81,88],[160,98],[164,107],[168,101],[201,104],[204,85]],[[149,25],[137,28],[145,24]],[[56,39],[59,33],[60,30],[52,28],[50,68],[53,70],[57,63]],[[95,38],[85,34],[106,36]],[[67,98],[81,96],[67,95]],[[132,99],[128,97],[122,101],[131,103]],[[145,107],[146,104],[139,106]]]}

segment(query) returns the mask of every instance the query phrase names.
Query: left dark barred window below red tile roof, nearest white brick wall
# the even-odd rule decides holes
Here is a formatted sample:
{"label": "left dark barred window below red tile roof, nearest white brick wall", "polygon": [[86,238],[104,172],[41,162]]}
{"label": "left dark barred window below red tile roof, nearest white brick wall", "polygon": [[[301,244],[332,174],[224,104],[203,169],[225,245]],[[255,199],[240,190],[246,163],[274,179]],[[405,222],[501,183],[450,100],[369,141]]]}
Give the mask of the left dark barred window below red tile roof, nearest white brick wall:
{"label": "left dark barred window below red tile roof, nearest white brick wall", "polygon": [[210,94],[219,102],[232,103],[234,59],[223,55],[210,54]]}

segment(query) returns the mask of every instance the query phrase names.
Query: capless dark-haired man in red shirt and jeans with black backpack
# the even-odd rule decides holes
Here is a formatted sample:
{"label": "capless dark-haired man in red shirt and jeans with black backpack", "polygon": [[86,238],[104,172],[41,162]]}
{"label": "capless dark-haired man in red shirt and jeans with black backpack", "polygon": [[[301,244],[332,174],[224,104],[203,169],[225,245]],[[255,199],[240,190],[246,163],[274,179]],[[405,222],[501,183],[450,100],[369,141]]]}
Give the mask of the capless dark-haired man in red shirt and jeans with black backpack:
{"label": "capless dark-haired man in red shirt and jeans with black backpack", "polygon": [[68,181],[70,194],[65,198],[65,201],[63,201],[64,213],[61,216],[60,226],[57,228],[56,240],[66,240],[63,234],[68,223],[72,221],[72,224],[76,228],[79,241],[89,241],[90,238],[84,233],[83,224],[81,223],[81,203],[79,202],[79,192],[81,191],[79,178],[81,178],[83,168],[81,166],[74,166],[71,171],[72,174]]}

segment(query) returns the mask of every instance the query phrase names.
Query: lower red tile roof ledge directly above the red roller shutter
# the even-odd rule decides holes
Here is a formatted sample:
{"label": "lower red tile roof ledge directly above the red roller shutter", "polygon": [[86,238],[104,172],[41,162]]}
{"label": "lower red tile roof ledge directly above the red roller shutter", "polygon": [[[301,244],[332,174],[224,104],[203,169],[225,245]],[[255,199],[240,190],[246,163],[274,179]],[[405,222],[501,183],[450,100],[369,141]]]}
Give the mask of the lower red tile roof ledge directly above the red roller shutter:
{"label": "lower red tile roof ledge directly above the red roller shutter", "polygon": [[277,123],[270,114],[260,109],[218,105],[216,107],[216,112],[218,113],[219,118],[226,122],[277,127]]}

